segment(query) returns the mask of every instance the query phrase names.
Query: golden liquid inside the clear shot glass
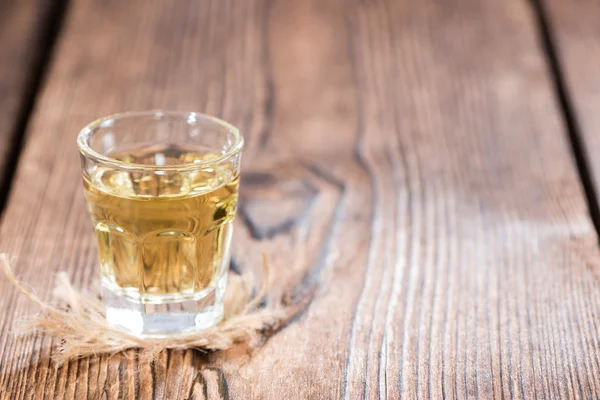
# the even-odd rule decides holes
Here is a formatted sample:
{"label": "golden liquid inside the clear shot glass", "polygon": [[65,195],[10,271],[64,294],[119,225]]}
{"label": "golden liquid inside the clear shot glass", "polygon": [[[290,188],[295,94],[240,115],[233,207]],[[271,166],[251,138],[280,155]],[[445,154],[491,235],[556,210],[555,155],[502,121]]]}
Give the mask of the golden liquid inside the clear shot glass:
{"label": "golden liquid inside the clear shot glass", "polygon": [[[180,148],[109,155],[176,165],[214,157]],[[196,172],[124,172],[96,167],[84,188],[104,284],[141,301],[189,297],[215,284],[229,263],[238,176],[232,165]]]}

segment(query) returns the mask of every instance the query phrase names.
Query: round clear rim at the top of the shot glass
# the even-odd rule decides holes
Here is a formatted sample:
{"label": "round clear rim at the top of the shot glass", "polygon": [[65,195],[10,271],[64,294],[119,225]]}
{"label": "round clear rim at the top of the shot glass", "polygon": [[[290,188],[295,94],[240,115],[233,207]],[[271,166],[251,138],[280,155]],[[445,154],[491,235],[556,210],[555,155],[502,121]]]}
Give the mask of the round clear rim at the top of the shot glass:
{"label": "round clear rim at the top of the shot glass", "polygon": [[[180,117],[180,118],[189,118],[190,116],[199,117],[200,119],[211,121],[221,127],[227,129],[227,131],[233,134],[235,138],[235,143],[225,153],[210,158],[207,160],[196,160],[191,163],[183,163],[176,165],[152,165],[152,164],[137,164],[130,163],[125,161],[119,161],[115,158],[108,157],[104,154],[98,153],[94,149],[92,149],[88,143],[91,134],[97,130],[98,128],[103,128],[102,124],[106,123],[109,120],[124,120],[128,118],[138,118],[138,117],[154,117],[154,118],[163,118],[163,117]],[[100,117],[95,119],[94,121],[85,125],[77,134],[77,146],[79,147],[79,152],[86,158],[105,166],[109,166],[115,169],[121,170],[140,170],[140,171],[190,171],[190,170],[201,170],[206,167],[216,166],[221,164],[222,162],[230,159],[235,156],[239,152],[242,151],[244,147],[244,138],[240,133],[240,130],[229,122],[222,120],[220,118],[214,117],[212,115],[203,114],[195,111],[165,111],[165,110],[148,110],[148,111],[125,111],[120,113],[110,114],[104,117]]]}

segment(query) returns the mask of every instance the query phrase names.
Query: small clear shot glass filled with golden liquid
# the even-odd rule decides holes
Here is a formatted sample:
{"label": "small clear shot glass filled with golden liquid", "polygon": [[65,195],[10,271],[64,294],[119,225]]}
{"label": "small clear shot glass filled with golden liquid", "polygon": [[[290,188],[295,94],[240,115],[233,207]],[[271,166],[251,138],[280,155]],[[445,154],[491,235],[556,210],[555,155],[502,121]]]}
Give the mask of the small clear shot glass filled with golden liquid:
{"label": "small clear shot glass filled with golden liquid", "polygon": [[106,318],[139,336],[223,317],[244,140],[199,113],[111,115],[79,133]]}

